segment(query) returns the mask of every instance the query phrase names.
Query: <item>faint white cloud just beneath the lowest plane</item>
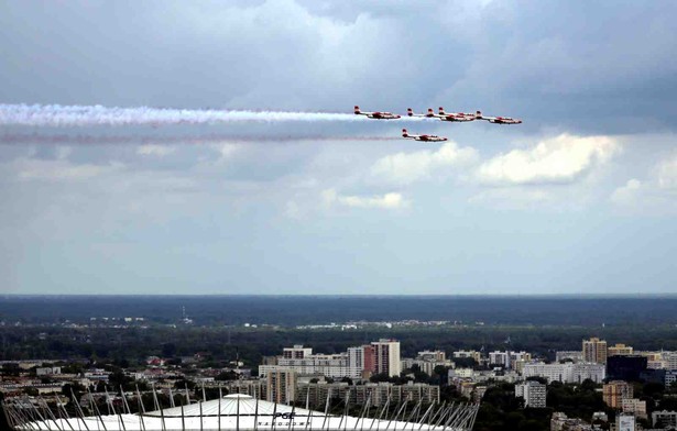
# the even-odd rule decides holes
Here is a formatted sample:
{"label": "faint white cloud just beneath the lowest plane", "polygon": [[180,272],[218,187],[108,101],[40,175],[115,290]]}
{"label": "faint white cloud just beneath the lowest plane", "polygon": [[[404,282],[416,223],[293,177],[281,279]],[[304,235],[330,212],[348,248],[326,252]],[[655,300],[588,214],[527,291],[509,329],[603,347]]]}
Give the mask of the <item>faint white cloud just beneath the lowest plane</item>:
{"label": "faint white cloud just beneath the lowest plane", "polygon": [[382,157],[371,167],[371,175],[389,183],[407,185],[428,179],[443,168],[470,164],[477,158],[474,148],[459,147],[455,142],[448,142],[437,151],[402,152]]}

